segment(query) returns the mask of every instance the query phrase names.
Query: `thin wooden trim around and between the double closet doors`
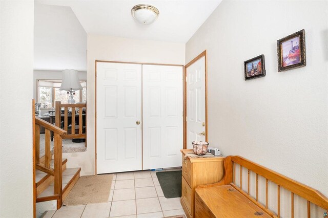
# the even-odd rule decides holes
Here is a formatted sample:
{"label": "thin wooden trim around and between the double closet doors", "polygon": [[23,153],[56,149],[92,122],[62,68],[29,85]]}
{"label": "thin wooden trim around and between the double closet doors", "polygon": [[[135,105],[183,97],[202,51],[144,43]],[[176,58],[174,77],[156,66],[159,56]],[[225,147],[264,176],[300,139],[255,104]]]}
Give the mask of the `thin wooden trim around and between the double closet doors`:
{"label": "thin wooden trim around and between the double closet doors", "polygon": [[[128,64],[140,64],[141,66],[144,65],[159,65],[159,66],[175,66],[175,67],[182,67],[182,81],[184,81],[185,76],[185,66],[183,64],[167,64],[167,63],[147,63],[147,62],[129,62],[129,61],[111,61],[111,60],[95,60],[95,80],[94,80],[94,153],[95,153],[95,175],[97,175],[97,62],[106,62],[106,63],[128,63]],[[182,82],[182,90],[183,85],[185,83]],[[185,92],[182,91],[183,99],[185,98]],[[185,109],[183,108],[183,112]],[[183,113],[183,117],[185,114]],[[185,120],[185,119],[184,119]],[[142,69],[141,69],[141,121],[142,121]],[[183,122],[183,121],[182,121]],[[185,132],[185,124],[182,125],[183,132]],[[142,129],[142,122],[141,122],[141,129]],[[142,132],[141,132],[142,133]],[[141,134],[141,154],[143,154],[143,146],[142,146],[142,134]],[[143,160],[141,157],[141,168],[143,165]]]}

